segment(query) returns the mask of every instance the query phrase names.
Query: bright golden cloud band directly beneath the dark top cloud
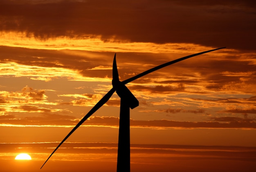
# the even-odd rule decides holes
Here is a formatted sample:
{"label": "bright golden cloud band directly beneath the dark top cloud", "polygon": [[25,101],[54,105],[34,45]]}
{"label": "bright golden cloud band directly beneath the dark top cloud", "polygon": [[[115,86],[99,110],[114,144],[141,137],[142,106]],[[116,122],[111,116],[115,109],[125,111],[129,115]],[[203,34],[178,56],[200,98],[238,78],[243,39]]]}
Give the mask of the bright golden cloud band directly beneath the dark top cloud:
{"label": "bright golden cloud band directly beneath the dark top cloud", "polygon": [[[20,32],[0,31],[0,45],[10,47],[24,47],[45,50],[86,50],[97,52],[150,52],[150,53],[180,53],[180,48],[189,48],[188,52],[200,51],[197,44],[155,44],[152,42],[131,42],[110,39],[104,41],[101,36],[81,35],[79,37],[60,36],[57,38],[37,39],[35,35]],[[19,38],[19,39],[18,39]],[[136,46],[134,46],[136,44]],[[129,47],[129,48],[127,48]],[[206,48],[200,46],[201,48]],[[58,64],[61,65],[61,64]],[[112,66],[99,65],[89,70],[108,70]]]}

